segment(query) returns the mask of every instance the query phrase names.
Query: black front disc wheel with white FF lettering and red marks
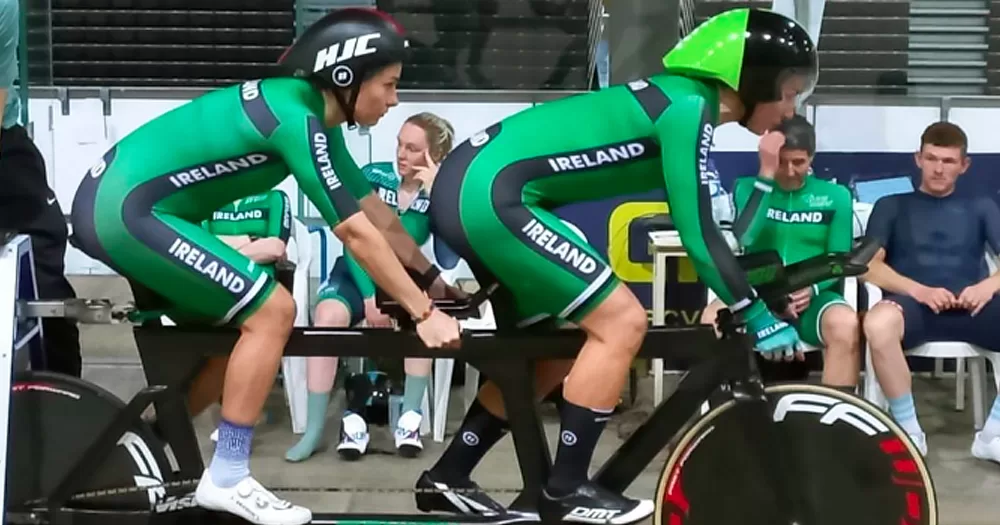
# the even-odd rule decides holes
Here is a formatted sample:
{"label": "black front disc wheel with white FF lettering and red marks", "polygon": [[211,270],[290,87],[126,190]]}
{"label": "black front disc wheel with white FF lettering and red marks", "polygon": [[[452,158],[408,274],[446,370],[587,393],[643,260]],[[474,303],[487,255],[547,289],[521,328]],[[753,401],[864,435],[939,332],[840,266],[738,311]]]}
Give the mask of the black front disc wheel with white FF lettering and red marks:
{"label": "black front disc wheel with white FF lettering and red marks", "polygon": [[[888,415],[821,386],[766,392],[776,425],[765,443],[750,432],[761,405],[734,401],[678,440],[654,525],[937,525],[923,458]],[[781,481],[772,482],[774,472]]]}

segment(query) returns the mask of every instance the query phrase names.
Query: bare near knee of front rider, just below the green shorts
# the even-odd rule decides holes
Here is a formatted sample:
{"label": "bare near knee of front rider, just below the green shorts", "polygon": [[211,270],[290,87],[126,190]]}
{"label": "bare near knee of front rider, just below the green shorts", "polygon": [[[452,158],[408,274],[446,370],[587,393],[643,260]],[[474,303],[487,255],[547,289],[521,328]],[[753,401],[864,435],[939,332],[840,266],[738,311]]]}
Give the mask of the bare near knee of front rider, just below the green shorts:
{"label": "bare near knee of front rider, just below the green shorts", "polygon": [[580,323],[588,337],[632,353],[642,344],[647,325],[646,309],[623,284]]}

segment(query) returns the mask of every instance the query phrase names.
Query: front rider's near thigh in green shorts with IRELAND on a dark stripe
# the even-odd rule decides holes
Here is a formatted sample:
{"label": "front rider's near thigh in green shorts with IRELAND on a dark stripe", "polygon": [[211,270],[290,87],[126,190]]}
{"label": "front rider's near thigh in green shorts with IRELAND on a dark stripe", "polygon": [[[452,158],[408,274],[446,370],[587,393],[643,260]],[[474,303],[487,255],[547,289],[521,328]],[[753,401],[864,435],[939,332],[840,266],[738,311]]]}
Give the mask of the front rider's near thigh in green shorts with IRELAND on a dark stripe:
{"label": "front rider's near thigh in green shorts with IRELAND on a dark stripe", "polygon": [[478,259],[514,296],[522,325],[548,317],[579,323],[618,284],[589,244],[548,210],[488,202],[462,206]]}

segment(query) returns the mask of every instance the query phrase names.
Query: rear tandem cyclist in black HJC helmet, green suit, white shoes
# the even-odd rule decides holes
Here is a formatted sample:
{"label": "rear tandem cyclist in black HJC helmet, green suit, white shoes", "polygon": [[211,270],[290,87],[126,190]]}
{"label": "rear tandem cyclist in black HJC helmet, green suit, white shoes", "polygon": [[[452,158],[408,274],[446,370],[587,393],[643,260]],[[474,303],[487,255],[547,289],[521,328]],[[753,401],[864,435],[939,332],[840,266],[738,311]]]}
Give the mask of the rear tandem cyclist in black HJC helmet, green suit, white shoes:
{"label": "rear tandem cyclist in black HJC helmet, green suit, white shoes", "polygon": [[[148,122],[111,148],[77,190],[73,231],[85,253],[165,298],[175,320],[240,328],[225,370],[218,444],[195,493],[203,507],[262,525],[311,519],[308,509],[275,497],[249,470],[253,424],[273,385],[295,304],[239,247],[199,226],[213,211],[291,173],[372,279],[418,321],[424,343],[458,344],[458,323],[435,310],[422,290],[447,287],[372,192],[341,129],[373,125],[398,103],[406,47],[387,15],[334,11],[282,56],[282,76],[208,93]],[[421,276],[418,283],[404,266]],[[221,379],[203,375],[195,385]]]}

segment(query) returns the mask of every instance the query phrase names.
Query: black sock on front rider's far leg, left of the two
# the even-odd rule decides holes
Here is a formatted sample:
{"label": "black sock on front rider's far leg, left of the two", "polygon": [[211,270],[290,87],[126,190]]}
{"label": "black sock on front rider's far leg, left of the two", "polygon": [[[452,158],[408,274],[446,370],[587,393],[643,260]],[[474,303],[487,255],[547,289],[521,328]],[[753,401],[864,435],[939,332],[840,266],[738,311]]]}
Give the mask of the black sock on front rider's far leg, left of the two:
{"label": "black sock on front rider's far leg, left of the two", "polygon": [[491,414],[476,399],[441,459],[431,467],[431,474],[444,478],[445,482],[469,479],[472,469],[509,428],[506,421]]}

